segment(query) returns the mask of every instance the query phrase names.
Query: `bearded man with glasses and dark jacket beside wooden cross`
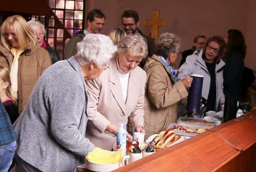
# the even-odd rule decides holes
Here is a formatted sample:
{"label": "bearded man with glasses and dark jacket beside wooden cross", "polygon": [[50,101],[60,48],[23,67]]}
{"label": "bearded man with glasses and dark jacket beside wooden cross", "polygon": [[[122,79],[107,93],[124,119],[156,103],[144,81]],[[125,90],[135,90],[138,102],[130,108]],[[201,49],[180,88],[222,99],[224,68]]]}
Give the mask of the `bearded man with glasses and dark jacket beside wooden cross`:
{"label": "bearded man with glasses and dark jacket beside wooden cross", "polygon": [[129,34],[140,34],[147,40],[148,45],[148,55],[146,58],[142,59],[139,66],[142,68],[146,63],[148,57],[151,57],[153,54],[156,54],[156,45],[155,41],[152,37],[143,34],[139,29],[138,26],[140,25],[139,15],[134,10],[126,10],[123,12],[121,16],[122,21],[122,29],[126,32],[127,35]]}

